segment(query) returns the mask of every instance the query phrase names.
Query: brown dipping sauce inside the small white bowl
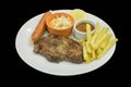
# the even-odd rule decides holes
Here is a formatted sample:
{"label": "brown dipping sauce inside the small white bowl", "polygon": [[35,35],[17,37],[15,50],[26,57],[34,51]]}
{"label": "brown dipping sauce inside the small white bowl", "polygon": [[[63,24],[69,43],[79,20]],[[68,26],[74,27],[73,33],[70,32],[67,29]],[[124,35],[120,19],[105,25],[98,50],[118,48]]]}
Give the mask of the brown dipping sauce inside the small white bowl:
{"label": "brown dipping sauce inside the small white bowl", "polygon": [[76,29],[80,30],[80,32],[86,33],[86,24],[91,25],[91,30],[93,30],[95,28],[91,23],[80,23],[76,26]]}

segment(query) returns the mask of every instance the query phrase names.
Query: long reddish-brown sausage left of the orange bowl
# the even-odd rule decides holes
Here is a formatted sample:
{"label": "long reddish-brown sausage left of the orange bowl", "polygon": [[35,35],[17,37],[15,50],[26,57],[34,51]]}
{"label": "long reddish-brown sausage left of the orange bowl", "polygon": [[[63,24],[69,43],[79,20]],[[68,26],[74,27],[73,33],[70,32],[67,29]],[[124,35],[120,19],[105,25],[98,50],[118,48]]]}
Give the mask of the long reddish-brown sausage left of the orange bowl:
{"label": "long reddish-brown sausage left of the orange bowl", "polygon": [[50,11],[47,11],[40,18],[38,25],[36,26],[35,30],[32,34],[32,41],[33,44],[36,44],[40,37],[43,36],[45,29],[46,29],[46,17],[48,17],[49,15],[51,15]]}

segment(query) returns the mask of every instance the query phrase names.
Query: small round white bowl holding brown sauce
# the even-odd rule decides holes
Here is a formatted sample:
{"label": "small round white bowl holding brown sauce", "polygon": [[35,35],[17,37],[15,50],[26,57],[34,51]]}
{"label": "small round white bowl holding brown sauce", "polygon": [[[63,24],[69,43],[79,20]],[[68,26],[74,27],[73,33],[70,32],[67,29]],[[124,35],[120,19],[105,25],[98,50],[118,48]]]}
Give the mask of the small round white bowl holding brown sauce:
{"label": "small round white bowl holding brown sauce", "polygon": [[94,29],[92,30],[92,33],[94,33],[94,30],[95,30],[95,23],[93,21],[90,21],[90,20],[80,20],[74,24],[74,27],[73,27],[74,37],[78,38],[78,39],[86,40],[86,38],[87,38],[86,33],[80,32],[80,30],[76,29],[76,26],[81,23],[92,24],[94,26]]}

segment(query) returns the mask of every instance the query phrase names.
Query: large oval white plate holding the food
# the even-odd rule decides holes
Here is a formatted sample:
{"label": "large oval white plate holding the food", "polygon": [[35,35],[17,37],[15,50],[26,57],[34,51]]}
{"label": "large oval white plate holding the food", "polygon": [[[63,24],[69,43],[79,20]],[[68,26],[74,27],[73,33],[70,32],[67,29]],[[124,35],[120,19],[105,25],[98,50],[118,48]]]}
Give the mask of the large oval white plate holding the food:
{"label": "large oval white plate holding the food", "polygon": [[[57,10],[52,12],[70,12],[71,10]],[[39,14],[29,21],[27,21],[19,30],[16,38],[15,38],[15,48],[21,57],[21,59],[27,63],[29,66],[52,75],[62,75],[62,76],[70,76],[70,75],[79,75],[79,74],[84,74],[88,73],[91,71],[94,71],[102,65],[104,65],[114,54],[115,49],[116,49],[116,44],[106,52],[106,54],[99,59],[95,60],[94,62],[90,64],[74,64],[70,62],[60,62],[60,63],[52,63],[48,62],[44,57],[40,54],[34,53],[33,49],[34,46],[31,44],[31,35],[34,32],[36,25],[38,24],[40,17],[43,14]],[[110,33],[114,35],[115,34],[111,29],[111,27],[100,20],[99,17],[87,13],[87,18],[91,21],[99,22],[102,26],[107,26],[109,27]],[[46,35],[46,34],[45,34]],[[73,37],[72,37],[73,38]]]}

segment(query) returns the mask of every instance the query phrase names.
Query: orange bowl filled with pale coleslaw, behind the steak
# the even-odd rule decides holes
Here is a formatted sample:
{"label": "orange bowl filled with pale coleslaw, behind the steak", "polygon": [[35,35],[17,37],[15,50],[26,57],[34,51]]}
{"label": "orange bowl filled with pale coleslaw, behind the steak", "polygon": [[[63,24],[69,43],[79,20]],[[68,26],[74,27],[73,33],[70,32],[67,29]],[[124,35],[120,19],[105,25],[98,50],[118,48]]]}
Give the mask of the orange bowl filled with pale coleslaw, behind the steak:
{"label": "orange bowl filled with pale coleslaw, behind the steak", "polygon": [[70,36],[74,18],[68,13],[53,13],[46,18],[46,25],[49,34]]}

